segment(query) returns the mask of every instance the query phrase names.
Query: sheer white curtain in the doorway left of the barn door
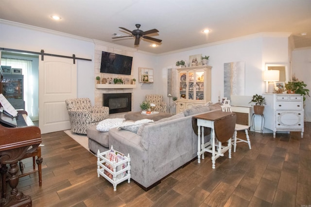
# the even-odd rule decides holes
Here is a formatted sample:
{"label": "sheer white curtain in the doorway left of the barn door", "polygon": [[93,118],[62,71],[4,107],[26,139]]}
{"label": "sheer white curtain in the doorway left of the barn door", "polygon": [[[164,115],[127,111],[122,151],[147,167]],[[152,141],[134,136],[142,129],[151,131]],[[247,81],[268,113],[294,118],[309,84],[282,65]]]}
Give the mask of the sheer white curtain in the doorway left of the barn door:
{"label": "sheer white curtain in the doorway left of the barn door", "polygon": [[11,66],[12,68],[21,68],[24,75],[24,101],[25,110],[32,120],[38,120],[38,94],[35,85],[38,80],[34,80],[32,61],[18,60],[10,58],[1,58],[1,65]]}

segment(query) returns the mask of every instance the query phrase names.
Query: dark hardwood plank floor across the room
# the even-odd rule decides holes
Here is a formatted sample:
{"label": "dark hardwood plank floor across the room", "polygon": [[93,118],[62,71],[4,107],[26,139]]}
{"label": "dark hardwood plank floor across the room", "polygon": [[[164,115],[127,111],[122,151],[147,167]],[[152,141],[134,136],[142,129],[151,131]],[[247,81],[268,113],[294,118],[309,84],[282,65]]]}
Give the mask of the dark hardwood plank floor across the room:
{"label": "dark hardwood plank floor across the room", "polygon": [[[18,189],[33,207],[304,207],[311,205],[311,122],[300,132],[262,136],[250,132],[252,149],[239,143],[232,159],[211,156],[168,175],[150,191],[126,181],[113,191],[97,177],[97,158],[63,131],[42,135],[42,187],[38,175]],[[243,137],[240,135],[240,137]],[[245,136],[244,136],[245,137]],[[32,167],[32,159],[24,160]],[[309,206],[310,207],[310,206]]]}

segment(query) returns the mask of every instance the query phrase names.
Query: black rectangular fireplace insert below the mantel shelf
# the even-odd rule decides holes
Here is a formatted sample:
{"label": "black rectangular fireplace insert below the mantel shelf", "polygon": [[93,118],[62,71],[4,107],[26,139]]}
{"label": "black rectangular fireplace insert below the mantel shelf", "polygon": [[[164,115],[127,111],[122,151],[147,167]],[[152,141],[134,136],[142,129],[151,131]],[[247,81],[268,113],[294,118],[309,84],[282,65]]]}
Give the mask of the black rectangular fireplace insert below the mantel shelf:
{"label": "black rectangular fireplace insert below the mantel shelf", "polygon": [[103,94],[103,106],[109,107],[109,114],[132,111],[132,94]]}

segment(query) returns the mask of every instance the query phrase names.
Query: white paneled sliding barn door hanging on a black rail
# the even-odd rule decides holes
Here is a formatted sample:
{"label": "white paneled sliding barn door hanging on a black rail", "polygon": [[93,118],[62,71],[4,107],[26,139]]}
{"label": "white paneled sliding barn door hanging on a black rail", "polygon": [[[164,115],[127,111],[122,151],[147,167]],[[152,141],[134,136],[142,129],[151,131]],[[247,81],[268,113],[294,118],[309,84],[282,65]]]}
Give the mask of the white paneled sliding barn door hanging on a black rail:
{"label": "white paneled sliding barn door hanging on a black rail", "polygon": [[42,134],[70,129],[65,100],[77,97],[77,65],[69,58],[39,57],[39,128]]}

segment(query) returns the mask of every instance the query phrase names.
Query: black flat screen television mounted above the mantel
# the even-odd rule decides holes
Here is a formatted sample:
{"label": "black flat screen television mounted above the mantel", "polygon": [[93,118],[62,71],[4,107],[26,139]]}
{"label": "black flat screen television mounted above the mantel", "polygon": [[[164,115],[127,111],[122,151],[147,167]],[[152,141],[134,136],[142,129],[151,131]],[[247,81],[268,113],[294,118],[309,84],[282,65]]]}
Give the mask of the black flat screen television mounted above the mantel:
{"label": "black flat screen television mounted above the mantel", "polygon": [[133,57],[102,52],[101,73],[131,75]]}

